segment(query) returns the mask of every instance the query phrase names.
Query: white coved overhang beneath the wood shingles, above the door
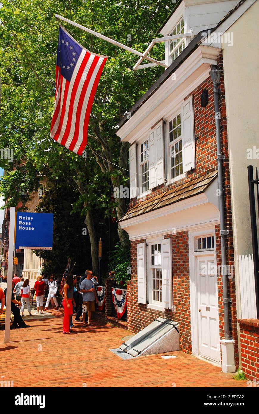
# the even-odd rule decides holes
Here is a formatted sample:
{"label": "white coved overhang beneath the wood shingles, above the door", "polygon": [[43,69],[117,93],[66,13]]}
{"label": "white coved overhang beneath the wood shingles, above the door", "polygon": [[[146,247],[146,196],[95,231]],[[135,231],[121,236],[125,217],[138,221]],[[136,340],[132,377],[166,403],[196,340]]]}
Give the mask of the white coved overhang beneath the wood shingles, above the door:
{"label": "white coved overhang beneath the wood shingles, above the door", "polygon": [[120,226],[128,233],[130,241],[134,241],[191,230],[202,224],[219,224],[217,188],[218,180],[214,174],[213,181],[197,195],[139,215],[136,211],[137,215],[133,217],[129,217],[129,209],[123,216],[129,218],[122,217]]}

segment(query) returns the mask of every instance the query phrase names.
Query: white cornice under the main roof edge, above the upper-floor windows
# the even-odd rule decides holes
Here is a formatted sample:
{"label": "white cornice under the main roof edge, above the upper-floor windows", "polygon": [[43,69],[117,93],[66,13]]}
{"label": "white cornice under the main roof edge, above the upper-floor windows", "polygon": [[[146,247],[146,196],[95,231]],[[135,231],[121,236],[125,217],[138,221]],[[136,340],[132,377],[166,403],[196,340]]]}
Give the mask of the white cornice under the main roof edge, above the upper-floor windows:
{"label": "white cornice under the main roof edge, above the upper-floor windows", "polygon": [[[172,80],[171,76],[168,77],[116,132],[121,140],[132,143],[143,137],[159,119],[165,118],[167,113],[180,103],[180,100],[184,99],[209,76],[210,65],[217,64],[220,51],[220,48],[199,46],[175,70],[176,80]],[[166,99],[168,102],[166,102]]]}

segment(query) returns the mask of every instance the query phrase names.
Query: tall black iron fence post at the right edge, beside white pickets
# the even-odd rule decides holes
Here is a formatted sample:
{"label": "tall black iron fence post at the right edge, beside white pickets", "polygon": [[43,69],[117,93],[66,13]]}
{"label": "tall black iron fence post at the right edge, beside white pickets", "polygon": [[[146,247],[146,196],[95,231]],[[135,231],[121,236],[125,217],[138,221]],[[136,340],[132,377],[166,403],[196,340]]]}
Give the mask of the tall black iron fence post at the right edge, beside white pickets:
{"label": "tall black iron fence post at the right edge, beside white pickets", "polygon": [[259,251],[258,251],[258,232],[257,221],[259,221],[259,178],[258,169],[255,169],[255,178],[253,166],[249,165],[248,170],[248,185],[249,185],[249,204],[250,217],[252,229],[252,247],[254,259],[254,283],[255,283],[255,298],[257,304],[257,318],[259,319]]}

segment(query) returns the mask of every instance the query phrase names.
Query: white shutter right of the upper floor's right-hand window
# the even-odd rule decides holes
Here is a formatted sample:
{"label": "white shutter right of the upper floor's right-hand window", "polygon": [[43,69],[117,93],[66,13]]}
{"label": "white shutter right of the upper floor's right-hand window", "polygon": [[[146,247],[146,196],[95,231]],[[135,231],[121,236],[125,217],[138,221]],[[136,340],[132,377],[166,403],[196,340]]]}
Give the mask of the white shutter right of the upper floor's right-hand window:
{"label": "white shutter right of the upper floor's right-hand window", "polygon": [[182,103],[182,171],[195,167],[193,97]]}

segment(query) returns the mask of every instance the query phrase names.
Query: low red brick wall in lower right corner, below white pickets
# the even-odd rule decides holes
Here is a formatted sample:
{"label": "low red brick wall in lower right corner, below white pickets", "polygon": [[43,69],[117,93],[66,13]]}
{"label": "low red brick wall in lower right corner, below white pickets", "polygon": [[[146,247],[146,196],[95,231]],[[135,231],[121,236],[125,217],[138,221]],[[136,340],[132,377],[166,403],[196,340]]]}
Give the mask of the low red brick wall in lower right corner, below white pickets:
{"label": "low red brick wall in lower right corner, below white pickets", "polygon": [[259,380],[259,320],[238,319],[242,370],[249,380]]}

